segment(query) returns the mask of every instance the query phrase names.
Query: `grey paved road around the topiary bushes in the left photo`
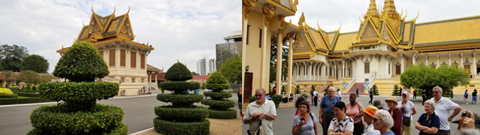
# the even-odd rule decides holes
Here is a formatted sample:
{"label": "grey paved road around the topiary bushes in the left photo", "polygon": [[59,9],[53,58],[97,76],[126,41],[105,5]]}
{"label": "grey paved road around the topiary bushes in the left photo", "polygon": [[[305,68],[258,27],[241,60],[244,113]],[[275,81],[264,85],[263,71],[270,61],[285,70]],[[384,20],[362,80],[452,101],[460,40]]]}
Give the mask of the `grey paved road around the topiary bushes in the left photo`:
{"label": "grey paved road around the topiary bushes in the left photo", "polygon": [[[155,106],[166,105],[169,103],[160,102],[156,99],[156,94],[160,90],[153,90],[152,95],[141,97],[117,98],[109,100],[97,101],[97,103],[118,106],[123,109],[125,115],[123,116],[123,123],[128,125],[128,134],[139,132],[153,127],[153,119],[156,117],[154,113]],[[167,93],[167,92],[165,92]],[[200,93],[202,94],[202,93]],[[237,101],[237,93],[232,93],[233,99]],[[51,106],[56,103],[46,103],[43,105],[32,106],[14,106],[4,107],[0,106],[0,134],[26,134],[32,130],[29,116],[32,110],[40,106]],[[195,103],[201,105],[200,103]],[[235,110],[239,111],[237,104]],[[237,114],[239,116],[239,114]]]}

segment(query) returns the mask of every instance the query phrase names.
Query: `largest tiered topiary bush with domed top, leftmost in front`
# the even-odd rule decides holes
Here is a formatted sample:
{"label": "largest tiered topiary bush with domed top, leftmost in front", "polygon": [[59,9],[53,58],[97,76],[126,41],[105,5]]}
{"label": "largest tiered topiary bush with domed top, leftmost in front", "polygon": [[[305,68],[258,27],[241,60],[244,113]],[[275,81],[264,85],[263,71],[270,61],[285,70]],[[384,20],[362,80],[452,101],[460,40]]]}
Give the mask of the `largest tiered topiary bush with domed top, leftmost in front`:
{"label": "largest tiered topiary bush with domed top, leftmost in front", "polygon": [[121,108],[96,103],[119,93],[119,84],[94,82],[108,73],[95,47],[75,42],[53,71],[53,75],[69,82],[44,82],[38,86],[41,97],[63,102],[34,110],[30,116],[34,129],[27,134],[128,134],[128,126],[121,122]]}

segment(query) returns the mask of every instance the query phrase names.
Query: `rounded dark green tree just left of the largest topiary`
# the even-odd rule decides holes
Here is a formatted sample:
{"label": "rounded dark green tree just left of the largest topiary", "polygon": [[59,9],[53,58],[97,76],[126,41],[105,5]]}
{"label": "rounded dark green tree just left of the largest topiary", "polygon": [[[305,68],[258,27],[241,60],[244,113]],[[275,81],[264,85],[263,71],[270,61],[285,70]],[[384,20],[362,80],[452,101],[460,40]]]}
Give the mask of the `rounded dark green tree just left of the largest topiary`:
{"label": "rounded dark green tree just left of the largest topiary", "polygon": [[23,58],[20,69],[21,71],[30,70],[37,73],[47,73],[48,66],[48,60],[43,58],[43,56],[33,54]]}

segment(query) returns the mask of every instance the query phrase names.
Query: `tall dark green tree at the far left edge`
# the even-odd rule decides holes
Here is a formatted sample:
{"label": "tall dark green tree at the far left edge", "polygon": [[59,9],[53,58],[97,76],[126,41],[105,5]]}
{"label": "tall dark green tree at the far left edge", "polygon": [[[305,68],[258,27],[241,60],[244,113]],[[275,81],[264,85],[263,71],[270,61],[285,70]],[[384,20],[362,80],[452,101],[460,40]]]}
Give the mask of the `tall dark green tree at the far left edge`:
{"label": "tall dark green tree at the far left edge", "polygon": [[1,69],[19,72],[21,67],[21,61],[23,60],[23,58],[28,56],[27,47],[22,47],[18,45],[1,45],[0,50],[0,55],[3,58],[1,63]]}

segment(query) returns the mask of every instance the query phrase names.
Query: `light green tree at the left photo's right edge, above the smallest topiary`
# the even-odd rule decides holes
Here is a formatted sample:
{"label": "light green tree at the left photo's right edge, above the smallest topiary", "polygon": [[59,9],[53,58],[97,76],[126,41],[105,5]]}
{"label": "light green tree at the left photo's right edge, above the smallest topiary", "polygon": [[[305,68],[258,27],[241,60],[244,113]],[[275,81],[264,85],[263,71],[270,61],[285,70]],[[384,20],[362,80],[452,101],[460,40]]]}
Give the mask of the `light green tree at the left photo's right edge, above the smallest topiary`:
{"label": "light green tree at the left photo's right edge, above the smallest topiary", "polygon": [[241,83],[241,56],[235,55],[235,58],[228,58],[220,67],[221,75],[224,75],[230,83]]}

